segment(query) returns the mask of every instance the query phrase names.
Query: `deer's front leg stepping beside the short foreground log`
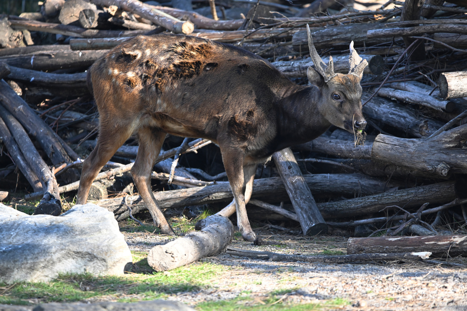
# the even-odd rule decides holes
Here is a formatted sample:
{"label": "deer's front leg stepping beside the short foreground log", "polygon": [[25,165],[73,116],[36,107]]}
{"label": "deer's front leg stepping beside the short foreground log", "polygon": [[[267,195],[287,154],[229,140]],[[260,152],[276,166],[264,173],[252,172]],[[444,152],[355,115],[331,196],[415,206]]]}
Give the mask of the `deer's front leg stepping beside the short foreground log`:
{"label": "deer's front leg stepping beside the short foreground log", "polygon": [[[243,185],[246,181],[243,174],[243,159],[245,158],[245,154],[241,149],[237,148],[222,148],[222,145],[220,145],[220,148],[227,178],[229,179],[233,198],[235,200],[237,224],[241,230],[241,236],[245,241],[253,242],[256,239],[256,235],[248,221],[247,209],[245,208],[245,196],[243,195]],[[250,174],[250,171],[252,170],[248,170],[248,174]],[[249,176],[249,179],[252,179],[252,176]]]}

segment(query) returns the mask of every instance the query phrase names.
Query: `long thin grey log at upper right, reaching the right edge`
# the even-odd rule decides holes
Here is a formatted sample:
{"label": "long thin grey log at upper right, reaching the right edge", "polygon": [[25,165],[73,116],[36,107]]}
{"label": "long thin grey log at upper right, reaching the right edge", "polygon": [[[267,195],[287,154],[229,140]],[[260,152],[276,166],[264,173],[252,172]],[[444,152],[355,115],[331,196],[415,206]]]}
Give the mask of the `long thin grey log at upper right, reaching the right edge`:
{"label": "long thin grey log at upper right, reaching the right edge", "polygon": [[398,36],[410,36],[410,35],[423,35],[423,34],[434,34],[434,33],[450,33],[450,34],[467,34],[467,26],[464,25],[449,25],[449,24],[438,24],[438,25],[424,25],[414,26],[407,28],[390,28],[390,29],[370,29],[367,32],[368,39],[385,38],[385,37],[398,37]]}

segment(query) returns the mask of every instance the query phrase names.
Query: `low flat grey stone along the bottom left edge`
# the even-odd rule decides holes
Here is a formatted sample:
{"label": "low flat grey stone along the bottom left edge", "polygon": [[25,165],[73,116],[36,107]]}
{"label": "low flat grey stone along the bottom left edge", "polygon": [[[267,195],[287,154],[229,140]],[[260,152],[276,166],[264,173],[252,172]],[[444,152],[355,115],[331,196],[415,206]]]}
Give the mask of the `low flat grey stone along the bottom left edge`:
{"label": "low flat grey stone along the bottom left edge", "polygon": [[141,301],[135,303],[104,302],[99,304],[39,304],[37,306],[0,304],[0,311],[195,311],[177,301]]}

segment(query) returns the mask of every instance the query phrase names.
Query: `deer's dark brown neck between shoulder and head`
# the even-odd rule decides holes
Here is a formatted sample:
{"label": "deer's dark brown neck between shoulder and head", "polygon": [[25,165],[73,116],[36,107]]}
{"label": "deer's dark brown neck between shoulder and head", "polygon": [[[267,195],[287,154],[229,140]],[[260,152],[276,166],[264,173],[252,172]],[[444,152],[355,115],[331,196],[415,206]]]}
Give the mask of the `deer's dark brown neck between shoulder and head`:
{"label": "deer's dark brown neck between shoulder and head", "polygon": [[327,131],[331,123],[318,111],[320,100],[320,91],[314,86],[294,85],[284,93],[277,131],[283,143],[279,147],[301,144]]}

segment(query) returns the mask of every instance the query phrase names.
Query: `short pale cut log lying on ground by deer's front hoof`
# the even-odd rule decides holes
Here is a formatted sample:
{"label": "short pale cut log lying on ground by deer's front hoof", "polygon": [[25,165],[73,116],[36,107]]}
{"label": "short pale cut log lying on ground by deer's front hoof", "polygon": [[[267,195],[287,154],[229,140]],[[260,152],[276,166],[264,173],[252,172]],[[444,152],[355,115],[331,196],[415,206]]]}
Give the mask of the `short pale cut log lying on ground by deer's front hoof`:
{"label": "short pale cut log lying on ground by deer's front hoof", "polygon": [[233,239],[233,225],[226,217],[211,215],[200,221],[201,231],[191,232],[148,253],[148,264],[156,271],[172,270],[201,258],[217,255]]}

